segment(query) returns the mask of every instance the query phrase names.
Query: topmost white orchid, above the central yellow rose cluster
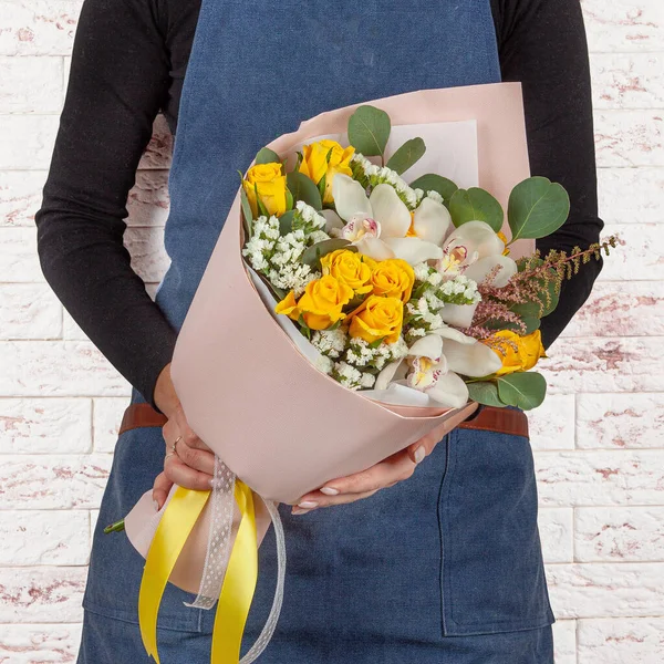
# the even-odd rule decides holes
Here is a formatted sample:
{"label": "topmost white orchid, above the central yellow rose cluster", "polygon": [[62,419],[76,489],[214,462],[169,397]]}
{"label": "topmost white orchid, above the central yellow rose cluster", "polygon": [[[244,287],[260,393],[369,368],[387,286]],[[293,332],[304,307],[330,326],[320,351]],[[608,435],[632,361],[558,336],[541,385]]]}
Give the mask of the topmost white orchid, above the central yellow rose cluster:
{"label": "topmost white orchid, above the central yellow rose cluster", "polygon": [[[364,187],[347,175],[338,174],[332,185],[336,214],[345,222],[338,235],[375,260],[401,258],[412,266],[440,260],[443,240],[452,228],[447,208],[424,198],[411,214],[394,187],[380,184],[366,196]],[[325,215],[330,227],[331,215]]]}

